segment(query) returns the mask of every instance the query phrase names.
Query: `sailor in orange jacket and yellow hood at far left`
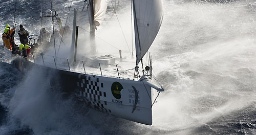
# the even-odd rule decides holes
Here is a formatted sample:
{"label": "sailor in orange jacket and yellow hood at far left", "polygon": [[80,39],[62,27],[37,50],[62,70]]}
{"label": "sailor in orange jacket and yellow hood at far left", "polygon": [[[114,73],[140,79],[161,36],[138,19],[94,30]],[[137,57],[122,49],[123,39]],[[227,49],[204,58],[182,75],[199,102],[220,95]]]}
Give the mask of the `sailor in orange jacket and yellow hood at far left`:
{"label": "sailor in orange jacket and yellow hood at far left", "polygon": [[12,32],[13,32],[14,30],[15,30],[15,28],[13,28],[13,29],[10,30],[10,26],[7,25],[6,28],[5,28],[5,32],[4,32],[3,35],[2,35],[2,39],[3,39],[3,41],[4,41],[5,46],[6,46],[8,49],[10,49],[10,50],[12,50],[11,34],[12,34]]}

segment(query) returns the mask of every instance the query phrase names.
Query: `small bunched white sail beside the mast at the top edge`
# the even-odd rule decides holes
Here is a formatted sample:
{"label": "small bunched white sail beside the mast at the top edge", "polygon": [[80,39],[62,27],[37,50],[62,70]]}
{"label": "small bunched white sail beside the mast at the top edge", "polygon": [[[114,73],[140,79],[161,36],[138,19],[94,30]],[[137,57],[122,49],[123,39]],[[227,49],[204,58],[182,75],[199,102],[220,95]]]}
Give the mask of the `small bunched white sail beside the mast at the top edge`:
{"label": "small bunched white sail beside the mast at the top edge", "polygon": [[99,26],[103,21],[106,12],[106,0],[94,0],[94,20],[95,25]]}

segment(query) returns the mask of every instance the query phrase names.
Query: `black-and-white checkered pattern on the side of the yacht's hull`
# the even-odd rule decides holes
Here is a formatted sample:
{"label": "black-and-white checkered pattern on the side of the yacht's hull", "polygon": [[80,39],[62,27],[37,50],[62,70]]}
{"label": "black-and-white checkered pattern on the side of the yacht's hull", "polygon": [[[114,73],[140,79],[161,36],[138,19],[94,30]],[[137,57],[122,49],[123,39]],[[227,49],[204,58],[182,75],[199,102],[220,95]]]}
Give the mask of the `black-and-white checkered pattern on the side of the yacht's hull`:
{"label": "black-and-white checkered pattern on the side of the yacht's hull", "polygon": [[77,82],[77,86],[79,87],[79,99],[97,110],[111,113],[110,109],[104,107],[104,105],[107,105],[106,101],[101,100],[101,97],[106,97],[106,93],[100,91],[100,89],[103,88],[103,83],[99,82],[99,78],[84,74],[80,74],[78,78],[79,82]]}

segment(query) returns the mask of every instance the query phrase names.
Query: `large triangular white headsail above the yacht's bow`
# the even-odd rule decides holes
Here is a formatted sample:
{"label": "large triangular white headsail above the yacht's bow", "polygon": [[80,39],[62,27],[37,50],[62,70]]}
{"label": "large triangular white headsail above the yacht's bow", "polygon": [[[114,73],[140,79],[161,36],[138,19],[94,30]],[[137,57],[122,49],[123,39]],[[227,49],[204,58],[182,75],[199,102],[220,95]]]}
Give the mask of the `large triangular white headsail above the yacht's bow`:
{"label": "large triangular white headsail above the yacht's bow", "polygon": [[161,0],[133,0],[137,64],[150,49],[163,19]]}

